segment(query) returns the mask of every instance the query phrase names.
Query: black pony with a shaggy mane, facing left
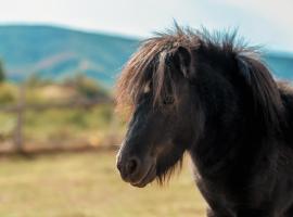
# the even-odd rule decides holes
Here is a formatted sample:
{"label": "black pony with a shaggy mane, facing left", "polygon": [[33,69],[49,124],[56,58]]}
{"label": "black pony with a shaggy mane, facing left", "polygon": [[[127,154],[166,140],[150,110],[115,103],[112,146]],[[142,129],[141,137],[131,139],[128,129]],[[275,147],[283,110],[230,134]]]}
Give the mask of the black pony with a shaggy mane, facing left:
{"label": "black pony with a shaggy mane, facing left", "polygon": [[235,34],[176,27],[142,43],[117,82],[131,120],[122,178],[161,183],[186,152],[209,217],[293,216],[293,91]]}

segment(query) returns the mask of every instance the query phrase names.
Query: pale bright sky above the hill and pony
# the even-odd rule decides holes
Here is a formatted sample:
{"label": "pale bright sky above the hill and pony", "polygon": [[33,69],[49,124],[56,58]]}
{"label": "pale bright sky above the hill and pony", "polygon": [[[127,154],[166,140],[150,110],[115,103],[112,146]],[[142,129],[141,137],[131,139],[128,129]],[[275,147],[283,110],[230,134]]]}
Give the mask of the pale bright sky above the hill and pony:
{"label": "pale bright sky above the hill and pony", "polygon": [[293,52],[292,0],[8,0],[1,24],[49,24],[149,37],[180,25],[238,28],[252,44]]}

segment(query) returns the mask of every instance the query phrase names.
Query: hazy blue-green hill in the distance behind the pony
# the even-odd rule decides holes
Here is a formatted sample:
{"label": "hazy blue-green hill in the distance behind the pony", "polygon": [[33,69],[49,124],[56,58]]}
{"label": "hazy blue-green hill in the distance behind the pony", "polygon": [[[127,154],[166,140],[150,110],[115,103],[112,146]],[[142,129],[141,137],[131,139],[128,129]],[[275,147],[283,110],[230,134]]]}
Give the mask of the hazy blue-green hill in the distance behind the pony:
{"label": "hazy blue-green hill in the distance behind the pony", "polygon": [[[52,26],[0,26],[0,59],[14,81],[30,74],[62,79],[85,73],[112,86],[138,43],[137,39]],[[265,59],[277,77],[293,79],[293,55],[275,52]]]}

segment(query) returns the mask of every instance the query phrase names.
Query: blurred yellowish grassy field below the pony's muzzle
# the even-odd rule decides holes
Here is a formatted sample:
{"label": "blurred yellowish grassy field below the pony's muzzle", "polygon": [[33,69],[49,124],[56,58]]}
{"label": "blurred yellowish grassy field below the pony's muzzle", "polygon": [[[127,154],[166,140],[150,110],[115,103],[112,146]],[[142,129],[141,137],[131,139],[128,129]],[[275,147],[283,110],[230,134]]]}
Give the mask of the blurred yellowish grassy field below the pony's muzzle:
{"label": "blurred yellowish grassy field below the pony's muzzle", "polygon": [[202,217],[205,213],[188,163],[165,187],[123,182],[115,153],[0,159],[0,216]]}

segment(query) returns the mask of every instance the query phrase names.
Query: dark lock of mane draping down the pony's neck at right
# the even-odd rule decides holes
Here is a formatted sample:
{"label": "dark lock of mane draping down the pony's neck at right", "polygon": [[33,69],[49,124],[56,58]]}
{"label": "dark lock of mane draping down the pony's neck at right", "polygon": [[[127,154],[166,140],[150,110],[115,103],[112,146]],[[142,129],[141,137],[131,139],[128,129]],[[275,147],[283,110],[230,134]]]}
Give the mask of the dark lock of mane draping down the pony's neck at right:
{"label": "dark lock of mane draping down the pony's neck at right", "polygon": [[277,84],[262,61],[247,55],[237,56],[238,68],[252,94],[254,111],[270,128],[280,124],[282,101]]}

